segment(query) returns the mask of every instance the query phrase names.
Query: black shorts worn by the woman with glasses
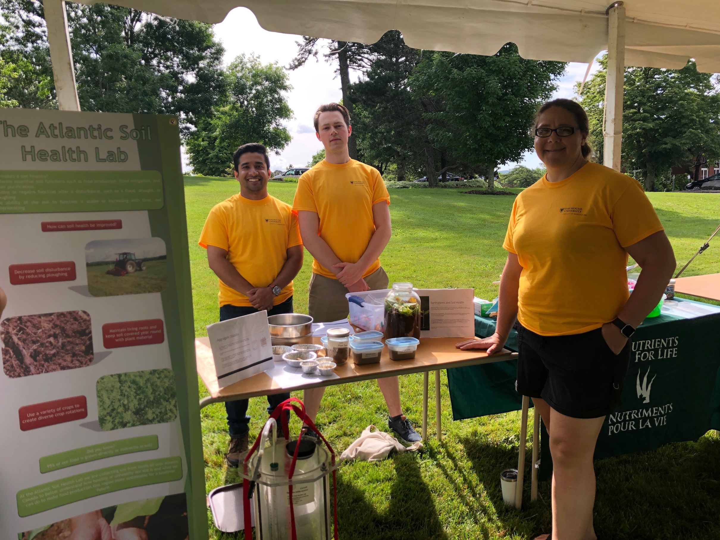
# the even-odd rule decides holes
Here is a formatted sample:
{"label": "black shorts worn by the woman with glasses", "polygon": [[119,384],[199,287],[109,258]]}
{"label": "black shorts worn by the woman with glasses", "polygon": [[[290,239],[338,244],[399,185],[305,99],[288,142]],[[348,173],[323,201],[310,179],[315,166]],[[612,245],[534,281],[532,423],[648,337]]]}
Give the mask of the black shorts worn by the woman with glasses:
{"label": "black shorts worn by the woman with glasses", "polygon": [[518,380],[522,395],[541,397],[558,413],[599,418],[620,405],[630,341],[614,354],[602,329],[540,336],[518,323]]}

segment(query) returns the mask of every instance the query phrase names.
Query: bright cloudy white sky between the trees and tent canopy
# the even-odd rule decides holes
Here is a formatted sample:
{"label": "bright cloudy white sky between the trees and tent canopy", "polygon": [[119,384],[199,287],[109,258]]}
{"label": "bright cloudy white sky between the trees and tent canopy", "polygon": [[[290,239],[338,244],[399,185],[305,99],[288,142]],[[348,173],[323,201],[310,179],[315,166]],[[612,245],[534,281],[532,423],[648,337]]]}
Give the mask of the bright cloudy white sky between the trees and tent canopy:
{"label": "bright cloudy white sky between the trees and tent canopy", "polygon": [[[292,30],[292,29],[289,29]],[[229,64],[240,54],[255,54],[263,63],[276,62],[287,66],[297,53],[295,42],[298,35],[268,32],[260,27],[253,13],[246,8],[233,9],[220,24],[215,24],[215,36],[225,47],[225,64]],[[289,82],[292,90],[287,100],[294,113],[294,118],[287,123],[292,135],[292,142],[287,145],[279,156],[271,156],[271,168],[286,169],[289,166],[305,166],[312,159],[312,154],[323,148],[315,138],[312,127],[312,115],[321,103],[337,102],[341,99],[340,78],[335,73],[334,64],[325,62],[322,55],[318,61],[310,58],[305,66],[289,71]],[[565,75],[558,81],[556,97],[572,97],[575,82],[582,81],[587,64],[570,63]],[[594,73],[598,64],[594,63]],[[351,73],[356,80],[358,73]],[[540,161],[534,153],[526,153],[521,161],[523,165],[536,167]],[[508,163],[500,168],[512,168],[515,163]],[[187,167],[186,167],[187,168]]]}

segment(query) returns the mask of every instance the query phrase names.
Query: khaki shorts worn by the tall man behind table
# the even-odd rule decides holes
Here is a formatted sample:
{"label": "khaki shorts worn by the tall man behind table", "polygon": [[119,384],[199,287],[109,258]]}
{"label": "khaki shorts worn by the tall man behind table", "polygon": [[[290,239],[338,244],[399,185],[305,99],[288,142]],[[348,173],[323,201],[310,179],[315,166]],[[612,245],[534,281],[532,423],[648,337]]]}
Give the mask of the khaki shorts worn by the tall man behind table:
{"label": "khaki shorts worn by the tall man behind table", "polygon": [[[380,266],[369,276],[365,282],[371,290],[387,289],[389,280],[387,274]],[[330,323],[333,320],[347,318],[350,309],[345,295],[348,289],[337,279],[312,274],[310,278],[310,293],[307,300],[307,314],[315,323]]]}

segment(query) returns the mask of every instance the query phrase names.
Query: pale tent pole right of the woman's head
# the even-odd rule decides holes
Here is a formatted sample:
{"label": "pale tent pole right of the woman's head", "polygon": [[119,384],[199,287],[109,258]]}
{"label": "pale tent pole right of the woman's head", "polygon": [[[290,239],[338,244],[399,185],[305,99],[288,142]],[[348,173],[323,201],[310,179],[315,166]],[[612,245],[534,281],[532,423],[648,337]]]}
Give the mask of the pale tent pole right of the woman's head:
{"label": "pale tent pole right of the woman's head", "polygon": [[603,135],[605,166],[620,171],[623,143],[623,89],[625,82],[625,7],[608,7],[608,77],[605,88],[606,120]]}

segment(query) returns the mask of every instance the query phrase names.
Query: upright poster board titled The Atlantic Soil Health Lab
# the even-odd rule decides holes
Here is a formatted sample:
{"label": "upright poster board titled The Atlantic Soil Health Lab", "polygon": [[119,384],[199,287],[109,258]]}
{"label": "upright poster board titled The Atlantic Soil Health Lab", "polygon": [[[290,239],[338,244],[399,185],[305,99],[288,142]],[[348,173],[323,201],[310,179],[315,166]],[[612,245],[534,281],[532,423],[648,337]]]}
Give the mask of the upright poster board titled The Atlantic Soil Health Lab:
{"label": "upright poster board titled The Atlantic Soil Health Lab", "polygon": [[0,109],[0,538],[207,538],[179,148],[171,116]]}

